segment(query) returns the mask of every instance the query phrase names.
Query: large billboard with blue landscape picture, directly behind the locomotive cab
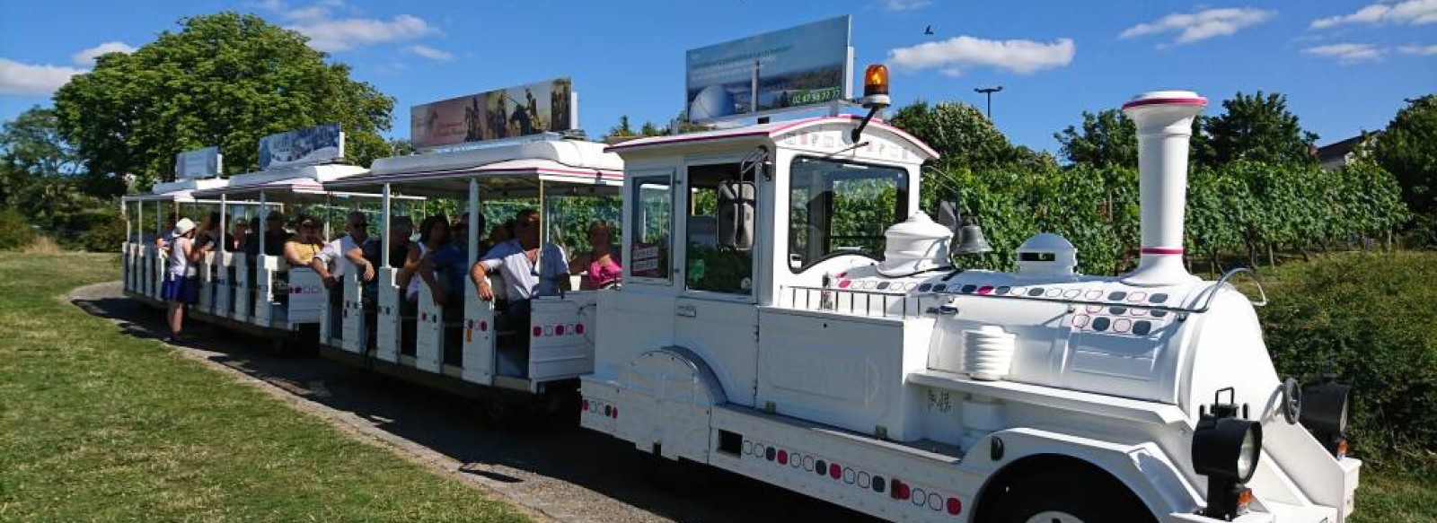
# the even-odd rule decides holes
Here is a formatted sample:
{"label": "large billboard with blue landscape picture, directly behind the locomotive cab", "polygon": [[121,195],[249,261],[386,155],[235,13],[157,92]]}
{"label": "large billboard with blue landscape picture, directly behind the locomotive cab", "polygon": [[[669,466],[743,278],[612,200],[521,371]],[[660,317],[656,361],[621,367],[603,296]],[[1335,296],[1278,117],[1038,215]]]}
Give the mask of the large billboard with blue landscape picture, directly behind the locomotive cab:
{"label": "large billboard with blue landscape picture, directly behind the locomotive cab", "polygon": [[[851,98],[848,16],[690,49],[685,108],[696,122],[753,116]],[[757,106],[753,69],[759,66]]]}

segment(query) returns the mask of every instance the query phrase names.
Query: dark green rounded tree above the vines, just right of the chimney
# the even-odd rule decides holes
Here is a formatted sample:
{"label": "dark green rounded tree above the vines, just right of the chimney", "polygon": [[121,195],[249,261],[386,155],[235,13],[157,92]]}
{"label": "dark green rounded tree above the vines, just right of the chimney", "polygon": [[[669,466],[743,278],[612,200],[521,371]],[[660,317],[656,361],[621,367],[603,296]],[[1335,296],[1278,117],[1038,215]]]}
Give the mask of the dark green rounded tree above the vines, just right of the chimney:
{"label": "dark green rounded tree above the vines, just right of the chimney", "polygon": [[1265,164],[1311,164],[1312,142],[1298,116],[1288,111],[1288,96],[1279,93],[1236,93],[1223,101],[1223,114],[1206,118],[1203,131],[1217,165],[1246,159]]}

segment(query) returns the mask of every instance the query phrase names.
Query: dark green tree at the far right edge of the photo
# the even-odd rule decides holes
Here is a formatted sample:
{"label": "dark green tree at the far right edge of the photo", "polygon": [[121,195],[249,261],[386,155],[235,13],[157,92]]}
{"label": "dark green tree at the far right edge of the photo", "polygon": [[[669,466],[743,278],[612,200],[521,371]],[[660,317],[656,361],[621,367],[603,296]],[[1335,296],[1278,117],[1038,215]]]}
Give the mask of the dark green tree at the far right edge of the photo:
{"label": "dark green tree at the far right edge of the photo", "polygon": [[1437,95],[1408,101],[1377,136],[1372,158],[1397,177],[1423,240],[1437,244]]}

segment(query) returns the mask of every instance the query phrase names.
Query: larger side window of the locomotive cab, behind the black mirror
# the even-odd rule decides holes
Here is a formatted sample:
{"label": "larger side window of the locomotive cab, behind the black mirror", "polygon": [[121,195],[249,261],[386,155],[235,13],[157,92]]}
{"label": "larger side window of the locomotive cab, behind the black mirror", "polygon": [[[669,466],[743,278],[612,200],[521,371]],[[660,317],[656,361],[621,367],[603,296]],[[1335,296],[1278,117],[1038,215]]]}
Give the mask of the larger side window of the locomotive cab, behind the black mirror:
{"label": "larger side window of the locomotive cab, behind the black mirror", "polygon": [[740,164],[688,167],[684,286],[733,295],[753,293],[753,249],[734,249],[720,241],[718,220],[747,214],[752,221],[757,187],[753,174],[743,174]]}

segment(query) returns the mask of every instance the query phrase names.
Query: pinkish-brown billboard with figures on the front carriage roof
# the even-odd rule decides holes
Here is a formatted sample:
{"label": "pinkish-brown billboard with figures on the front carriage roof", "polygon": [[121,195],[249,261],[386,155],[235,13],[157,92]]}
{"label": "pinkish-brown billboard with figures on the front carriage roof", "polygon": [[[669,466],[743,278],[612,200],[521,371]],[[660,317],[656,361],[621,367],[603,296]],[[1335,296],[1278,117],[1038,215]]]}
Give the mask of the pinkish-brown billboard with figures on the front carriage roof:
{"label": "pinkish-brown billboard with figures on the front carriage roof", "polygon": [[563,132],[578,126],[568,78],[496,89],[410,108],[410,142],[434,148]]}

